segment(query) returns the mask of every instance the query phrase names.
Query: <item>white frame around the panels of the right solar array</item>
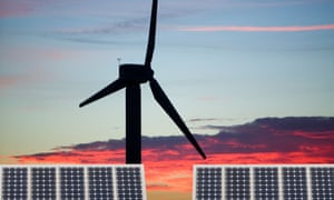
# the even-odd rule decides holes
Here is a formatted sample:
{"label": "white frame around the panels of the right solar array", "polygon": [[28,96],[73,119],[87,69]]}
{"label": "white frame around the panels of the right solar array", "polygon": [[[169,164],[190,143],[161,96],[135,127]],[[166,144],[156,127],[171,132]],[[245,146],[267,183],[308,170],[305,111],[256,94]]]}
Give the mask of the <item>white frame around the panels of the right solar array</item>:
{"label": "white frame around the panels of the right solar array", "polygon": [[[325,196],[328,197],[330,199],[334,199],[334,164],[195,164],[194,166],[194,179],[193,179],[193,200],[199,200],[198,197],[198,191],[197,191],[197,184],[198,184],[198,169],[203,169],[203,168],[220,168],[222,169],[222,182],[223,182],[223,190],[222,190],[222,199],[228,199],[227,193],[226,193],[226,169],[230,169],[230,168],[248,168],[249,169],[249,187],[250,187],[250,200],[255,200],[255,199],[277,199],[277,200],[285,200],[285,199],[296,199],[299,200],[299,197],[294,197],[294,198],[285,198],[285,193],[284,193],[284,168],[304,168],[305,169],[305,199],[307,200],[320,200],[323,196],[320,194],[320,198],[315,198],[314,196],[314,189],[313,189],[313,184],[315,182],[315,180],[312,179],[312,170],[317,169],[317,168],[326,168],[328,169],[330,172],[327,172],[327,182],[331,183],[331,186],[333,187],[333,189],[321,189],[320,191],[332,191],[332,193]],[[276,183],[278,186],[275,186],[275,197],[268,197],[268,198],[258,198],[257,196],[257,191],[256,191],[256,169],[266,169],[266,168],[271,168],[271,169],[275,169],[276,172],[274,174],[275,181],[277,181]],[[269,180],[271,178],[268,178]],[[327,183],[326,181],[322,180],[322,178],[318,181],[323,181],[325,183]],[[332,184],[333,182],[333,184]],[[275,183],[275,184],[276,184]],[[278,190],[278,191],[276,191]],[[321,192],[320,192],[321,193]],[[233,198],[232,198],[233,199]]]}

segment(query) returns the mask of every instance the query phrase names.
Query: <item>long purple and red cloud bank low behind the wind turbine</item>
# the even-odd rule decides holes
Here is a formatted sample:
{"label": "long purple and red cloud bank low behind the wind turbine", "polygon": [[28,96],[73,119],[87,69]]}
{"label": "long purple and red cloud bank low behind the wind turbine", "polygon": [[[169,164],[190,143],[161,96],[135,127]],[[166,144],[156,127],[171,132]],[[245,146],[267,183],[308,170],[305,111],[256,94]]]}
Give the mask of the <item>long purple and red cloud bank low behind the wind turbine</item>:
{"label": "long purple and red cloud bank low behind the wind turbine", "polygon": [[[216,126],[214,128],[219,130],[217,134],[195,134],[208,158],[214,154],[227,153],[245,153],[247,156],[247,153],[296,152],[303,153],[305,157],[332,158],[334,151],[334,118],[262,118],[240,126]],[[124,151],[124,149],[125,139],[59,147],[55,152],[16,158],[33,157],[37,160],[43,160],[57,156],[57,153],[62,157],[88,154],[94,157],[98,152],[110,154],[110,152]],[[121,153],[124,153],[122,151]],[[114,156],[119,159],[125,157],[121,153],[114,153]],[[143,137],[143,154],[153,160],[197,158],[197,152],[184,136]],[[332,161],[334,162],[333,159]]]}

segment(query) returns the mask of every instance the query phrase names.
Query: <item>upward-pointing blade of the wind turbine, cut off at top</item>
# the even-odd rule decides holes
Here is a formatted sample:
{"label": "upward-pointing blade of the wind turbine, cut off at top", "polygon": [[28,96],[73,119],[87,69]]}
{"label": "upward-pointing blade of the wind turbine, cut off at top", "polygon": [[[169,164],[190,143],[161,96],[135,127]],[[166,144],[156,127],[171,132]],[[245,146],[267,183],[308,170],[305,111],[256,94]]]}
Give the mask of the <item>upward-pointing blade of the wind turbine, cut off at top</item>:
{"label": "upward-pointing blade of the wind turbine, cut off at top", "polygon": [[148,34],[148,44],[146,50],[145,66],[150,67],[153,59],[155,43],[156,43],[156,27],[157,27],[157,10],[158,10],[158,0],[153,0],[151,13],[150,13],[150,24],[149,24],[149,34]]}

